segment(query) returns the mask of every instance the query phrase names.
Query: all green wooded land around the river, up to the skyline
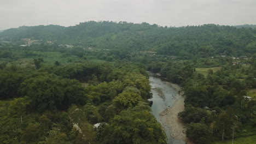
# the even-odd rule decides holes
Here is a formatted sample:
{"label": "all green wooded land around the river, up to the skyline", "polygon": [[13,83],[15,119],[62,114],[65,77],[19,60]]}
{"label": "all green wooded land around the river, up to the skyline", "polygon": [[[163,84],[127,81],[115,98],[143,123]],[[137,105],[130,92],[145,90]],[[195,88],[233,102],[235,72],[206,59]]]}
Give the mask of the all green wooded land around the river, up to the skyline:
{"label": "all green wooded land around the river, up to the skyline", "polygon": [[191,141],[256,135],[255,38],[246,26],[108,21],[5,30],[0,142],[166,143],[147,70],[183,87]]}

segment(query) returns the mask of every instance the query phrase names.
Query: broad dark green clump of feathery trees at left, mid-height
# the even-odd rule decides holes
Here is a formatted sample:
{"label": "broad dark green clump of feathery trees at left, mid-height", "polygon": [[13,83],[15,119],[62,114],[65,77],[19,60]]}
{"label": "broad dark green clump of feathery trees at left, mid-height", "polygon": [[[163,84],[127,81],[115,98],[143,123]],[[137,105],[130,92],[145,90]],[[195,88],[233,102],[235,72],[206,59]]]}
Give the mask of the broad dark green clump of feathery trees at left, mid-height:
{"label": "broad dark green clump of feathery trees at left, mid-height", "polygon": [[85,104],[84,87],[77,80],[60,79],[54,75],[32,77],[21,83],[20,93],[32,100],[32,107],[67,109],[71,104]]}

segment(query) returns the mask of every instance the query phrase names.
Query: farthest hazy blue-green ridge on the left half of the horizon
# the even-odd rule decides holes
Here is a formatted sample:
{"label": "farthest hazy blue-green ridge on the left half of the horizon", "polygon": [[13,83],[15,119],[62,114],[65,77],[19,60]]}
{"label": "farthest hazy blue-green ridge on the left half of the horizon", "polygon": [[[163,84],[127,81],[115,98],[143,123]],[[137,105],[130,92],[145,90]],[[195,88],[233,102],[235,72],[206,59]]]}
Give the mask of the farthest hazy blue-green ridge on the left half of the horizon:
{"label": "farthest hazy blue-green ridge on the left half of the horizon", "polygon": [[[4,31],[0,37],[9,37],[11,40],[19,40],[20,38],[34,38],[34,39],[72,39],[78,36],[82,38],[100,37],[102,35],[118,33],[122,31],[144,31],[157,25],[149,25],[148,23],[133,24],[127,22],[83,22],[76,26],[21,26],[19,28],[10,28]],[[81,37],[80,37],[81,38]],[[68,38],[69,39],[69,38]]]}

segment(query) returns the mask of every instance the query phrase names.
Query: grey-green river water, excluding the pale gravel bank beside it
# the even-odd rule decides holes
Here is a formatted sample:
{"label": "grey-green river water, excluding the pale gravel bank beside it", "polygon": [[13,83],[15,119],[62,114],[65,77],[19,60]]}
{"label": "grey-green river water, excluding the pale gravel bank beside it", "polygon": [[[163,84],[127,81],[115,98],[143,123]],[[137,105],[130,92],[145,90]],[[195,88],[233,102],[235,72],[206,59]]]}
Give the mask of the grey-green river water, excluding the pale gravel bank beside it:
{"label": "grey-green river water, excluding the pale gravel bank beside it", "polygon": [[[170,108],[176,101],[179,96],[176,89],[168,85],[168,82],[164,81],[164,79],[160,79],[158,76],[153,76],[150,74],[149,76],[150,85],[152,87],[151,92],[153,93],[153,98],[150,99],[153,101],[153,105],[151,107],[152,113],[157,119],[158,122],[161,123],[162,127],[165,130],[167,136],[167,143],[172,144],[185,144],[182,140],[176,140],[171,137],[170,128],[165,127],[164,122],[161,121],[161,116],[159,115],[165,109]],[[164,94],[165,99],[161,98],[159,93],[156,91],[156,88],[160,89],[161,93]]]}

